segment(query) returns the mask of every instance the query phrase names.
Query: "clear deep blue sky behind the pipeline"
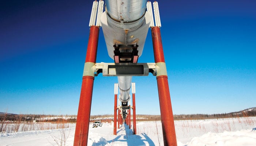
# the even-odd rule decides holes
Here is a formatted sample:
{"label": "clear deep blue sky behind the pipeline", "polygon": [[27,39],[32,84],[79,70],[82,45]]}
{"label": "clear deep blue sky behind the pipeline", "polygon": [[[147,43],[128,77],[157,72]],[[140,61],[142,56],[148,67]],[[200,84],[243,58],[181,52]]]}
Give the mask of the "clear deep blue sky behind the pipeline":
{"label": "clear deep blue sky behind the pipeline", "polygon": [[[153,2],[153,1],[152,1]],[[77,114],[91,2],[0,2],[0,112]],[[159,0],[174,114],[256,106],[256,1]],[[151,31],[138,62],[154,62]],[[97,62],[109,58],[100,30]],[[160,114],[157,82],[133,77],[136,113]],[[91,115],[113,114],[117,77],[95,77]]]}

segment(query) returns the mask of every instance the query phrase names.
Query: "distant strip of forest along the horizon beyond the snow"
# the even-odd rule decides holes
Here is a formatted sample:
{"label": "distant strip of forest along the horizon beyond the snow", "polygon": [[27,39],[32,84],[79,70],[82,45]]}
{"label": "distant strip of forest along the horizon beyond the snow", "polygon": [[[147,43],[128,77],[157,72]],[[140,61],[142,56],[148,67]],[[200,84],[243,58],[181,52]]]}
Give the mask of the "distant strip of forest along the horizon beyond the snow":
{"label": "distant strip of forest along the horizon beyond the snow", "polygon": [[[248,108],[238,112],[222,113],[222,114],[189,114],[174,115],[174,120],[203,120],[203,119],[222,119],[222,118],[240,118],[256,116],[256,107]],[[57,117],[57,118],[45,118]],[[70,117],[70,118],[63,118]],[[101,120],[102,122],[113,121],[114,115],[91,115],[91,122]],[[132,117],[132,116],[131,116]],[[136,115],[137,121],[156,121],[161,120],[161,115]],[[0,112],[0,121],[16,121],[16,122],[76,122],[75,115],[17,115]]]}

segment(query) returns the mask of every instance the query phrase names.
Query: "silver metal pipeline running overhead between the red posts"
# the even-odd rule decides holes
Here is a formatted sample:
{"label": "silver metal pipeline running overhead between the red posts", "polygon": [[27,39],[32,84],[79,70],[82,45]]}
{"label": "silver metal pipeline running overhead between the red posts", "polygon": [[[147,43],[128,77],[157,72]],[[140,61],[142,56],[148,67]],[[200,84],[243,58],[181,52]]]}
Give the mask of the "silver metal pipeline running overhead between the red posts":
{"label": "silver metal pipeline running overhead between the red posts", "polygon": [[[147,0],[105,0],[105,12],[101,25],[109,57],[114,59],[113,45],[123,46],[120,52],[132,52],[127,46],[138,45],[138,56],[142,55],[151,16],[146,11]],[[131,76],[118,77],[120,100],[130,100]]]}

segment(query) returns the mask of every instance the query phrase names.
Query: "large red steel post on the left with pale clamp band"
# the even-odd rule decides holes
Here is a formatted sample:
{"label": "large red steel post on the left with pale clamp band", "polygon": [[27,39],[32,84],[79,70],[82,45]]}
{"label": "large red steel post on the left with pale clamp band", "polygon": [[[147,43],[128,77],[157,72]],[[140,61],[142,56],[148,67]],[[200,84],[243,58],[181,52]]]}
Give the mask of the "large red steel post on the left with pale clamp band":
{"label": "large red steel post on the left with pale clamp band", "polygon": [[96,62],[98,38],[99,27],[91,26],[76,120],[74,146],[87,146],[94,82],[94,73],[90,72],[90,68]]}

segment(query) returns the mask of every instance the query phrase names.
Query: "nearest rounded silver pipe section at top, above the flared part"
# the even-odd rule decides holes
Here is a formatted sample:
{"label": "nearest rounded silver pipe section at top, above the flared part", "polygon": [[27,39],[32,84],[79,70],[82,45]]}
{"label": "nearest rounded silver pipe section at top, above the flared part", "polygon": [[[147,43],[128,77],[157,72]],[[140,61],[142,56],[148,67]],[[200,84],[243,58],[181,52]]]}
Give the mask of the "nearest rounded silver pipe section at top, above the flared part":
{"label": "nearest rounded silver pipe section at top, above the flared part", "polygon": [[105,0],[108,16],[120,22],[133,22],[143,17],[147,0]]}

